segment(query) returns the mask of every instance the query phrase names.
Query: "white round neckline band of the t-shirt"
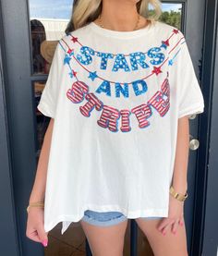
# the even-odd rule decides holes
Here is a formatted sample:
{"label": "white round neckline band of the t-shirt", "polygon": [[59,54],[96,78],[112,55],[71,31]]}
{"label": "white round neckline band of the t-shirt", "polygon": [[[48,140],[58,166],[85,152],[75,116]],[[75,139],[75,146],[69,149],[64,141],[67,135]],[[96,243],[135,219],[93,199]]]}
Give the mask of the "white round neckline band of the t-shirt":
{"label": "white round neckline band of the t-shirt", "polygon": [[149,24],[146,27],[143,27],[139,30],[131,30],[131,31],[108,30],[100,27],[94,21],[91,21],[91,23],[89,23],[88,26],[91,28],[91,30],[99,34],[102,34],[104,36],[127,39],[127,38],[135,38],[135,37],[143,36],[148,32],[151,32],[151,30],[155,27],[156,23],[157,21],[154,24]]}

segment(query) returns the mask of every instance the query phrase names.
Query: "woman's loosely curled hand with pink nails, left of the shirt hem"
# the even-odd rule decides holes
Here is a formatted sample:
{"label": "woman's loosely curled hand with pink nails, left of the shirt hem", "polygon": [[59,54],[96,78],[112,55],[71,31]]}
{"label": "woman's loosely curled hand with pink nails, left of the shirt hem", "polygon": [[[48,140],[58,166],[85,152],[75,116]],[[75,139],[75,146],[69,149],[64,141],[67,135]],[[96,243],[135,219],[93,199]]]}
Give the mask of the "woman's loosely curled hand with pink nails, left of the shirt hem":
{"label": "woman's loosely curled hand with pink nails, left of the shirt hem", "polygon": [[44,210],[40,207],[30,207],[27,220],[26,236],[35,242],[41,242],[44,247],[48,243],[48,232],[44,231]]}

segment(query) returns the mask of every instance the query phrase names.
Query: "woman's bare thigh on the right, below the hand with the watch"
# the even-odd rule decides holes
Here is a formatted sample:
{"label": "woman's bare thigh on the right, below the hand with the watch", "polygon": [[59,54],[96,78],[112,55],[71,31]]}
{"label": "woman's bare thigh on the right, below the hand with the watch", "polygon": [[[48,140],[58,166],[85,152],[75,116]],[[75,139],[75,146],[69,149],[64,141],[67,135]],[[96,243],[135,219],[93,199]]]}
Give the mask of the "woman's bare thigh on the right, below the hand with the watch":
{"label": "woman's bare thigh on the right, below the hand with the watch", "polygon": [[169,228],[165,236],[157,229],[162,218],[137,218],[135,220],[143,234],[148,238],[155,256],[188,256],[185,220],[183,226],[177,227],[176,235]]}

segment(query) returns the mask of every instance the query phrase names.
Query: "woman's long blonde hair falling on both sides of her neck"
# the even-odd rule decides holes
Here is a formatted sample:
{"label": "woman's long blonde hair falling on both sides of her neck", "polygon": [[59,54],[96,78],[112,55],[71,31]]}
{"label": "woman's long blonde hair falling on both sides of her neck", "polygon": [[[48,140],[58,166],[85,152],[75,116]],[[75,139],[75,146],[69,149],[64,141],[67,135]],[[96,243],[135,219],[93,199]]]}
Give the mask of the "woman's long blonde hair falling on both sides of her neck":
{"label": "woman's long blonde hair falling on both sides of her neck", "polygon": [[[157,20],[162,14],[161,2],[159,0],[140,0],[137,4],[138,12],[144,18],[151,21]],[[153,12],[149,11],[149,5]],[[77,30],[98,18],[102,12],[102,0],[74,0],[71,18],[67,24],[66,33]]]}

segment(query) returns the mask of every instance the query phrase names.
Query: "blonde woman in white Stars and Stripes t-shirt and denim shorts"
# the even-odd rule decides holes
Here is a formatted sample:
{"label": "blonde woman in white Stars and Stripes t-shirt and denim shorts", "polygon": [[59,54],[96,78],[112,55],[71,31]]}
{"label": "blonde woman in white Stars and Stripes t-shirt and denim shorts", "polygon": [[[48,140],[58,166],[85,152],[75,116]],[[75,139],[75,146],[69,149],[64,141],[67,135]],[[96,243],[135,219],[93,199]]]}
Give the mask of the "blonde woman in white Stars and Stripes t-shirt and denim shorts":
{"label": "blonde woman in white Stars and Stripes t-shirt and denim shorts", "polygon": [[157,0],[75,2],[38,105],[51,121],[28,238],[80,221],[93,255],[122,255],[134,218],[155,255],[188,255],[188,116],[204,102],[184,35],[160,13]]}

